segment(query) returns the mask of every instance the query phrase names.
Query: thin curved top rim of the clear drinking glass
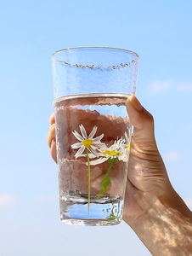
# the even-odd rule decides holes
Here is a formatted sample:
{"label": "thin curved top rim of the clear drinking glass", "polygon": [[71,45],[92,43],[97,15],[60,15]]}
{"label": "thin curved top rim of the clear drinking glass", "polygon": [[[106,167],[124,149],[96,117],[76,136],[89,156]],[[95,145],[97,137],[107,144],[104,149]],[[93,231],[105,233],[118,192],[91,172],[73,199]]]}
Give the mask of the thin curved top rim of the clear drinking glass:
{"label": "thin curved top rim of the clear drinking glass", "polygon": [[59,55],[59,53],[61,52],[64,52],[64,51],[67,51],[67,50],[76,50],[76,49],[113,49],[113,50],[116,50],[116,51],[125,51],[129,54],[132,54],[136,57],[139,58],[139,55],[134,52],[133,50],[130,50],[130,49],[123,49],[123,48],[117,48],[117,47],[109,47],[109,46],[80,46],[80,47],[69,47],[69,48],[64,48],[64,49],[59,49],[57,51],[54,52],[54,54],[52,55],[53,57],[55,57],[56,55]]}

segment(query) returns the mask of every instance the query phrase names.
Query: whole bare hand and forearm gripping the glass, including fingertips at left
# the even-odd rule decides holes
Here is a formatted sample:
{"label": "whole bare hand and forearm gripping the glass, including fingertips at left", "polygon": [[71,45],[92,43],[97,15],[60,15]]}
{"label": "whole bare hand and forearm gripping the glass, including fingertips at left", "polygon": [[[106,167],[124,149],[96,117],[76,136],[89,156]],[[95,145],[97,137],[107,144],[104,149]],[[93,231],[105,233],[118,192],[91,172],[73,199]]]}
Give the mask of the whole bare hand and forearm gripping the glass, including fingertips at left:
{"label": "whole bare hand and forearm gripping the glass, including fingertips at left", "polygon": [[[155,143],[154,119],[135,96],[127,99],[127,113],[134,133],[123,219],[153,255],[192,255],[192,212],[167,176]],[[52,114],[48,146],[56,162],[54,122]]]}

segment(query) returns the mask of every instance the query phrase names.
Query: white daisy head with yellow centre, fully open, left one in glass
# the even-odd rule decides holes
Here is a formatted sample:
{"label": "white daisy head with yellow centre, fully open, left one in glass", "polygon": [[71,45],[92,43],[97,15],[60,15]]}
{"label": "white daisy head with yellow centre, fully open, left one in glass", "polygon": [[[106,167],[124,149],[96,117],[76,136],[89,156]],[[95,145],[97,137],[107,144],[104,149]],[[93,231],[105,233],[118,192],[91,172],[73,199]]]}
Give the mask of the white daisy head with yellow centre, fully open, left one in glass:
{"label": "white daisy head with yellow centre, fully open, left one in glass", "polygon": [[[72,131],[73,135],[79,140],[79,143],[74,143],[71,145],[71,148],[79,148],[75,154],[75,157],[83,156],[85,148],[88,148],[88,151],[95,156],[99,156],[98,150],[104,146],[104,143],[101,143],[100,140],[104,137],[104,134],[99,135],[99,137],[94,137],[98,127],[94,126],[93,130],[90,132],[89,136],[83,125],[79,125],[82,135],[77,131]],[[94,138],[93,138],[94,137]]]}

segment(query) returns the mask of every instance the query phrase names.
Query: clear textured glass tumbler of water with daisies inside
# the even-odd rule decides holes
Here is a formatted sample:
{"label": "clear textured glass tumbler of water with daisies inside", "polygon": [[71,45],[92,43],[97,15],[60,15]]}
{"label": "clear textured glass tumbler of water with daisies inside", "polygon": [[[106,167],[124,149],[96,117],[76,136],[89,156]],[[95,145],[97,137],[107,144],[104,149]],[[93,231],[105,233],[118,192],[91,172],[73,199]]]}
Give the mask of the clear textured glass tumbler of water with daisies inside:
{"label": "clear textured glass tumbler of water with daisies inside", "polygon": [[65,224],[113,225],[122,218],[138,55],[81,47],[53,55],[60,218]]}

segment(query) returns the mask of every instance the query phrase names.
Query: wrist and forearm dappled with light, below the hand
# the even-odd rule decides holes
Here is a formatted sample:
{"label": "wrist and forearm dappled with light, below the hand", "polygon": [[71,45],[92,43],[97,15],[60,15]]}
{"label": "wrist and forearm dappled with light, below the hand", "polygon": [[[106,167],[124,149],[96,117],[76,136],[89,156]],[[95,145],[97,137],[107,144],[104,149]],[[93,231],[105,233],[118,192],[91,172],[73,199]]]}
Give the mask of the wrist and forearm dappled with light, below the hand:
{"label": "wrist and forearm dappled with light, below the hand", "polygon": [[192,213],[172,187],[133,224],[153,255],[192,252]]}

